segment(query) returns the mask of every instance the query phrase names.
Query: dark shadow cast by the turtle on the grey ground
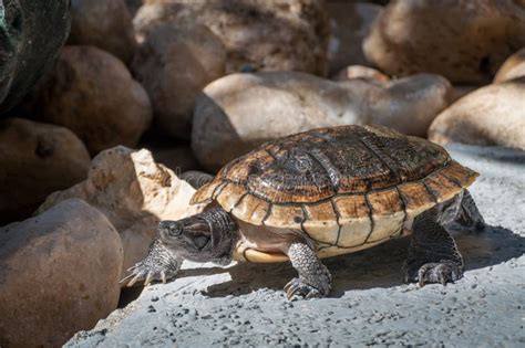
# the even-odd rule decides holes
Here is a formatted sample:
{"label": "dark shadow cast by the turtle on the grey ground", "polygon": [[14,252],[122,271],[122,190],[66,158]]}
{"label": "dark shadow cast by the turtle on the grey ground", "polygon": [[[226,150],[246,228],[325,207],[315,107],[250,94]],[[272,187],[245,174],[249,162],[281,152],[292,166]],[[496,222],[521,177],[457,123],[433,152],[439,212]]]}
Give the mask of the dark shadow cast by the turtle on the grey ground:
{"label": "dark shadow cast by the turtle on the grey ground", "polygon": [[[487,225],[481,232],[454,233],[463,254],[465,271],[500,264],[525,253],[525,238],[508,229]],[[341,297],[350,289],[392,287],[403,284],[403,262],[406,257],[410,236],[392,240],[379,246],[353,254],[326,259],[323,263],[333,277],[330,297]],[[250,264],[238,263],[230,268],[184,270],[179,276],[210,275],[229,272],[230,282],[209,286],[204,295],[225,297],[249,294],[258,288],[279,291],[296,276],[289,263]]]}

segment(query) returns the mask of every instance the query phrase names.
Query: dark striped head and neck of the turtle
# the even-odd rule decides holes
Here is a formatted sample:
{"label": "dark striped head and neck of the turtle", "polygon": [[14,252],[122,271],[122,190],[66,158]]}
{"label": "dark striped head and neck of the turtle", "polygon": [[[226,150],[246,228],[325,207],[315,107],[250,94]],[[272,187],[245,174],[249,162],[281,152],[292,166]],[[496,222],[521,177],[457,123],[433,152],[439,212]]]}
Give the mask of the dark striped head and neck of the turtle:
{"label": "dark striped head and neck of the turtle", "polygon": [[178,257],[226,265],[238,240],[237,224],[222,208],[158,224],[162,243]]}

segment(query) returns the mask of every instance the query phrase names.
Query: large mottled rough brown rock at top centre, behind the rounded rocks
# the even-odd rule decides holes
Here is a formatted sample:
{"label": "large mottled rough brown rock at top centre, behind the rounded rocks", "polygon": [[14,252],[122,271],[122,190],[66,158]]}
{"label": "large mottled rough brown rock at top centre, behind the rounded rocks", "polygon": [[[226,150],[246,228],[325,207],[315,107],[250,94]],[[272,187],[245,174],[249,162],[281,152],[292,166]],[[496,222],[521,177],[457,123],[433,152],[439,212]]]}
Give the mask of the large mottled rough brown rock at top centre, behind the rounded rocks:
{"label": "large mottled rough brown rock at top centre, behind the rounded rocks", "polygon": [[148,0],[133,22],[138,40],[166,22],[208,27],[226,46],[228,73],[327,73],[329,21],[321,0]]}

